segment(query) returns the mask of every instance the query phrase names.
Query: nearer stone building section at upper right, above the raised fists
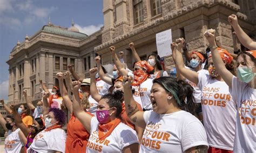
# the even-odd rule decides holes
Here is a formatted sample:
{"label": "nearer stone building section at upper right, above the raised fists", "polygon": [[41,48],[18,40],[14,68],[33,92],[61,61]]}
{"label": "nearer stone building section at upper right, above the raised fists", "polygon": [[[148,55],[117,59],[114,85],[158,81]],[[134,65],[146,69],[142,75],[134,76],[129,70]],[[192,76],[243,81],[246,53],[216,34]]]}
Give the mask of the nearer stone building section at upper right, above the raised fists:
{"label": "nearer stone building section at upper right, above the raised fists", "polygon": [[[143,21],[136,24],[136,5],[141,2]],[[160,13],[153,14],[154,2],[160,3]],[[103,64],[112,60],[108,48],[114,45],[117,52],[125,52],[125,61],[131,66],[129,43],[133,42],[140,57],[156,52],[156,33],[172,29],[172,39],[184,37],[188,50],[204,49],[207,29],[217,31],[218,44],[233,52],[232,28],[227,22],[231,14],[238,15],[239,24],[248,34],[256,34],[256,2],[253,0],[153,0],[104,1],[104,28],[102,44],[95,51],[102,54]],[[105,22],[107,21],[107,22]],[[173,67],[172,57],[165,57],[166,69]]]}

